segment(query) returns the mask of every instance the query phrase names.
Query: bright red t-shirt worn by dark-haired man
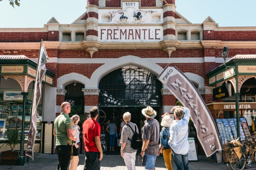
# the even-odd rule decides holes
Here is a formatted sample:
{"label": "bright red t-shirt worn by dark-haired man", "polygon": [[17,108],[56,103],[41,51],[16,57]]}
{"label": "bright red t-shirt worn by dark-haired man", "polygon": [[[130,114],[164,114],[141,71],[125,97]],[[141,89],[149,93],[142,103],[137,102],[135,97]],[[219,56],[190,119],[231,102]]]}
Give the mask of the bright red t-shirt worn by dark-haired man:
{"label": "bright red t-shirt worn by dark-haired man", "polygon": [[84,150],[86,152],[99,152],[95,136],[100,136],[100,124],[93,119],[88,119],[83,123]]}

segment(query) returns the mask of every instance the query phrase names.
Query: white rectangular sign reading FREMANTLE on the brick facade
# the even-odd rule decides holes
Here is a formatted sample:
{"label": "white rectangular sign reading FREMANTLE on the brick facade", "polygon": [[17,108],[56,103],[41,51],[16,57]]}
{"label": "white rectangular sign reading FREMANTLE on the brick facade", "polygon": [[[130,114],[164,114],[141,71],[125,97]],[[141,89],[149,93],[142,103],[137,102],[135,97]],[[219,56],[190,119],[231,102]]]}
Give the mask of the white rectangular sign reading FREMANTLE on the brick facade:
{"label": "white rectangular sign reading FREMANTLE on the brick facade", "polygon": [[100,42],[160,42],[163,28],[160,26],[99,26]]}

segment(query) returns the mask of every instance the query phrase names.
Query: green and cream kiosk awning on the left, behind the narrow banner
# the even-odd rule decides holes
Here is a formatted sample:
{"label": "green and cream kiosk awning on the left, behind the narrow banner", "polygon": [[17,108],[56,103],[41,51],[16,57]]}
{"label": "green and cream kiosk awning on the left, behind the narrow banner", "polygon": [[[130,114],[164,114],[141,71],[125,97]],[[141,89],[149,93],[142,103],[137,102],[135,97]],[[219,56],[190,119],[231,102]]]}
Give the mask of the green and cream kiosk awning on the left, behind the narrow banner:
{"label": "green and cream kiosk awning on the left, behind the narrow banner", "polygon": [[[29,83],[35,80],[37,63],[24,55],[0,55],[0,75],[5,79],[16,79],[26,91]],[[43,83],[53,86],[54,73],[49,70],[43,78]]]}

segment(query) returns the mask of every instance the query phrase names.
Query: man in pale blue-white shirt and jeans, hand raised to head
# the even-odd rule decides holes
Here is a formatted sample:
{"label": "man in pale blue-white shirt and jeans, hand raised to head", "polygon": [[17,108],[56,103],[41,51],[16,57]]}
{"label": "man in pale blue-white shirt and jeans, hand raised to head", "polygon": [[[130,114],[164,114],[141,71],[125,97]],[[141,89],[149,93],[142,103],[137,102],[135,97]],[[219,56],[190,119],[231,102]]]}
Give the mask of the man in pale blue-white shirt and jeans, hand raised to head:
{"label": "man in pale blue-white shirt and jeans, hand raised to head", "polygon": [[[173,110],[175,120],[170,127],[170,138],[168,144],[172,148],[172,155],[177,169],[189,170],[189,142],[187,138],[190,110],[180,106],[174,106],[171,111]],[[185,115],[183,117],[184,112]],[[166,114],[163,116],[165,115]]]}

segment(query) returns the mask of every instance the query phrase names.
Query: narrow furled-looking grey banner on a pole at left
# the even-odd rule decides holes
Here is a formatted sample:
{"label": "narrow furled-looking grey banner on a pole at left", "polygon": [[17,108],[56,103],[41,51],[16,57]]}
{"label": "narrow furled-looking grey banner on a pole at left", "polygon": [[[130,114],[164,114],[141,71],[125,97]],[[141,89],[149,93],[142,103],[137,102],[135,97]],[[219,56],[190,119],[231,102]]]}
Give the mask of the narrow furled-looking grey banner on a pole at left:
{"label": "narrow furled-looking grey banner on a pole at left", "polygon": [[32,112],[31,112],[31,122],[29,128],[29,135],[28,135],[28,143],[26,147],[26,156],[31,157],[34,160],[34,144],[36,139],[36,127],[37,127],[37,111],[36,108],[39,104],[41,98],[41,89],[42,89],[42,80],[44,74],[46,73],[46,62],[48,60],[48,56],[46,53],[46,49],[42,43],[42,47],[39,51],[39,57],[36,67],[36,79],[35,79],[35,86],[33,92],[33,101],[32,101]]}

